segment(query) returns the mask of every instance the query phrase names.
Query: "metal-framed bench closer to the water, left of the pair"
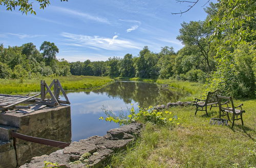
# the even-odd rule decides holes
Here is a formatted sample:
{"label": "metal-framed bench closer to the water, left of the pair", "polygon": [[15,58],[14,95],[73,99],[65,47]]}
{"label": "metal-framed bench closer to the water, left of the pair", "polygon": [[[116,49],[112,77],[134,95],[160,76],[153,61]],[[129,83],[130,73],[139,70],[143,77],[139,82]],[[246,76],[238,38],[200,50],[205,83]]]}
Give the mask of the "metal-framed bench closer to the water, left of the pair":
{"label": "metal-framed bench closer to the water, left of the pair", "polygon": [[[206,111],[206,115],[208,116],[207,106],[210,105],[210,109],[212,107],[218,107],[218,100],[216,96],[220,94],[221,94],[220,90],[217,90],[215,92],[208,92],[207,98],[205,100],[195,98],[196,103],[193,104],[197,107],[195,115],[197,114],[197,111]],[[198,109],[198,108],[201,108],[201,109]]]}

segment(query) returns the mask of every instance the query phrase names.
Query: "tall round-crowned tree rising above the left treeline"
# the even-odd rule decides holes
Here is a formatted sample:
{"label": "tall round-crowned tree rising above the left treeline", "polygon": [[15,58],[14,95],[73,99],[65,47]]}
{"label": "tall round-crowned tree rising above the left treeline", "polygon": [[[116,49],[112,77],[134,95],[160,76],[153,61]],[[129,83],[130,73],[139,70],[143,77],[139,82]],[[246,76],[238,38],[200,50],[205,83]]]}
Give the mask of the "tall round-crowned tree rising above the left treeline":
{"label": "tall round-crowned tree rising above the left treeline", "polygon": [[53,60],[56,60],[56,53],[59,52],[58,47],[49,41],[44,41],[40,46],[40,51],[42,52],[42,56],[46,60],[46,65],[50,65]]}

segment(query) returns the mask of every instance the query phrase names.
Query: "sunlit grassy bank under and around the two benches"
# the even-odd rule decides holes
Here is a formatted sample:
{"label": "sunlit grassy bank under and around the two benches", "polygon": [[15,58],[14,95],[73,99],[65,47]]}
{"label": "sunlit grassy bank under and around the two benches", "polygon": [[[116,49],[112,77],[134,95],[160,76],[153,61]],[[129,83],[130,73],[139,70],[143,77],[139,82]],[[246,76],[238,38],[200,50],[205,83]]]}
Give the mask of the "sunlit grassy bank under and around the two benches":
{"label": "sunlit grassy bank under and around the two benches", "polygon": [[[200,83],[157,80],[170,87],[184,89],[191,94],[184,100],[203,96]],[[180,119],[175,127],[145,123],[138,141],[124,153],[114,155],[106,167],[255,167],[256,166],[256,100],[234,100],[244,103],[244,126],[235,121],[230,126],[210,125],[210,118],[218,118],[218,107],[198,111],[195,106],[172,107],[169,110]],[[230,122],[229,122],[230,124]]]}

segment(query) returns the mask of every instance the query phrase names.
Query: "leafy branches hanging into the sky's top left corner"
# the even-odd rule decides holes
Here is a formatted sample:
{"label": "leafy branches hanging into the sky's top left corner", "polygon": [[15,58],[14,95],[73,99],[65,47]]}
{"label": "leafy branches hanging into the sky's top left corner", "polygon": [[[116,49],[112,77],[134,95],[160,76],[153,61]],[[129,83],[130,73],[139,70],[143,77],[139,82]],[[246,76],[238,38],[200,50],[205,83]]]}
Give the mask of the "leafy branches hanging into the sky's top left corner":
{"label": "leafy branches hanging into the sky's top left corner", "polygon": [[[68,0],[60,0],[68,1]],[[40,5],[40,9],[45,9],[48,5],[50,5],[49,0],[36,0]],[[28,12],[31,14],[36,14],[33,9],[33,3],[30,3],[29,0],[0,0],[0,5],[6,6],[7,11],[15,10],[15,8],[19,7],[19,11],[25,13],[27,15]]]}

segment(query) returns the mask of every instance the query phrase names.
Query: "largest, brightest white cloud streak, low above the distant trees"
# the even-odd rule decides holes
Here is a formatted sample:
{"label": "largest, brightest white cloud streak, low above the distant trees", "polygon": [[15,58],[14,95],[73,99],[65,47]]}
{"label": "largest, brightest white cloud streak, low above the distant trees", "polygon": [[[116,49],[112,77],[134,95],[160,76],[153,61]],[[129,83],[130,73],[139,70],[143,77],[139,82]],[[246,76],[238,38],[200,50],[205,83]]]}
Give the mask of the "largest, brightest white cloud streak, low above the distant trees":
{"label": "largest, brightest white cloud streak, low above the distant trees", "polygon": [[117,39],[117,35],[115,35],[113,38],[76,35],[71,33],[61,33],[60,35],[65,37],[64,40],[67,42],[66,45],[69,46],[105,50],[141,49],[143,46],[130,40]]}

